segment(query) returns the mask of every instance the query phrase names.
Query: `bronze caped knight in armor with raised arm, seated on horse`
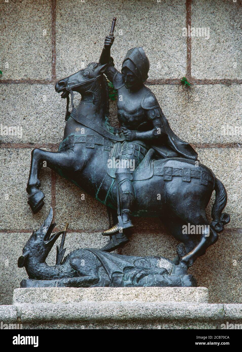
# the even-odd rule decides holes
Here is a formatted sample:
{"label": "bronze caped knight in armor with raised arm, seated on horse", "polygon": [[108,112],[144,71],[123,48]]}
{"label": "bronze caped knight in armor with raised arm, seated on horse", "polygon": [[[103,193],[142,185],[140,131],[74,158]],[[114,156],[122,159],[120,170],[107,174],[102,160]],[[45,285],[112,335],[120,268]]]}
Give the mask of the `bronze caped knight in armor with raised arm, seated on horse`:
{"label": "bronze caped knight in armor with raised arm, seated on horse", "polygon": [[[105,38],[99,62],[102,65],[109,63],[104,73],[118,91],[118,120],[125,138],[119,159],[132,160],[137,167],[149,148],[153,148],[157,158],[182,157],[196,160],[197,153],[190,144],[174,134],[155,95],[144,86],[150,67],[144,50],[141,47],[130,49],[124,58],[120,73],[114,67],[113,58],[110,56],[113,40],[113,36]],[[119,167],[115,172],[123,223],[114,225],[104,231],[103,235],[118,233],[120,226],[124,230],[133,226],[131,212],[135,190],[132,185],[133,169],[127,167],[128,165],[129,163],[126,163],[125,167]]]}

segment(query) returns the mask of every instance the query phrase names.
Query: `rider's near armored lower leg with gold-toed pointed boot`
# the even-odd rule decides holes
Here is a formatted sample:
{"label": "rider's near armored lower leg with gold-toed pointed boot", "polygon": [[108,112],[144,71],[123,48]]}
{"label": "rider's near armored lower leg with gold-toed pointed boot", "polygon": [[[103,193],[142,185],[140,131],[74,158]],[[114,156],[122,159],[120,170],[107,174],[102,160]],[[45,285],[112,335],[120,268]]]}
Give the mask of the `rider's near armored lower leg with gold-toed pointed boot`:
{"label": "rider's near armored lower leg with gold-toed pointed boot", "polygon": [[115,175],[118,184],[117,198],[119,197],[121,216],[118,216],[118,224],[102,233],[104,236],[110,236],[134,226],[131,221],[131,209],[135,200],[135,190],[131,181],[133,176],[130,172],[117,172]]}

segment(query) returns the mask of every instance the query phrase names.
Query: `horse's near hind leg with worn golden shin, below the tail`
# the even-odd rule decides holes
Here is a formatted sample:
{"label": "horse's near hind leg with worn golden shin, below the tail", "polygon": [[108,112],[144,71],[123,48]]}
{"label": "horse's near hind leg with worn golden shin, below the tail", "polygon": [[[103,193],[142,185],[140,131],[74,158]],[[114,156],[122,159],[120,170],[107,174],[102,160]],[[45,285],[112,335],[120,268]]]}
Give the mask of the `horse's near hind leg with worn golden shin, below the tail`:
{"label": "horse's near hind leg with worn golden shin, below the tail", "polygon": [[[205,254],[206,249],[209,246],[217,241],[218,234],[209,226],[205,211],[202,214],[197,215],[195,218],[191,218],[190,221],[188,219],[187,222],[190,223],[190,225],[196,226],[196,235],[200,236],[198,244],[190,252],[180,258],[180,264],[191,266],[198,257]],[[199,233],[197,233],[197,230]],[[190,234],[190,237],[191,236],[194,235]]]}

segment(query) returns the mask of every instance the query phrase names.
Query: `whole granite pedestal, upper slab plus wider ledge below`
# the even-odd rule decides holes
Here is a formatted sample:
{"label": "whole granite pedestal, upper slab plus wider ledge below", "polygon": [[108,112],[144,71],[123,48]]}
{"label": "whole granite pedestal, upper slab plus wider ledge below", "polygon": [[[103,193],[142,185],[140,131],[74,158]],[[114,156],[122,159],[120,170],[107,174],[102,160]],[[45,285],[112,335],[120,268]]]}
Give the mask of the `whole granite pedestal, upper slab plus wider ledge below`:
{"label": "whole granite pedestal, upper slab plus wider ledge below", "polygon": [[207,303],[204,287],[20,288],[0,320],[26,329],[221,329],[242,304]]}

